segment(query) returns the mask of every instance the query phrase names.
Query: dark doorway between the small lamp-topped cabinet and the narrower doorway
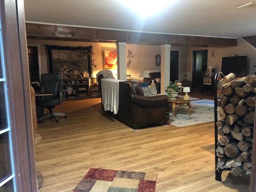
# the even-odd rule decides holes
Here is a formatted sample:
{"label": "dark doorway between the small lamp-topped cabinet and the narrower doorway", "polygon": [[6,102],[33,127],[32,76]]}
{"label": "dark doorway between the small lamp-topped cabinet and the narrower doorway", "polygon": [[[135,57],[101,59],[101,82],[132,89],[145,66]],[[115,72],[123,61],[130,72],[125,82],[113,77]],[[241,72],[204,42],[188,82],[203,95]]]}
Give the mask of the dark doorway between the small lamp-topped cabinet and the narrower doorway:
{"label": "dark doorway between the small lamp-topped cabinet and the narrower doorway", "polygon": [[193,51],[193,70],[192,70],[192,86],[193,88],[201,88],[204,74],[207,70],[208,50]]}

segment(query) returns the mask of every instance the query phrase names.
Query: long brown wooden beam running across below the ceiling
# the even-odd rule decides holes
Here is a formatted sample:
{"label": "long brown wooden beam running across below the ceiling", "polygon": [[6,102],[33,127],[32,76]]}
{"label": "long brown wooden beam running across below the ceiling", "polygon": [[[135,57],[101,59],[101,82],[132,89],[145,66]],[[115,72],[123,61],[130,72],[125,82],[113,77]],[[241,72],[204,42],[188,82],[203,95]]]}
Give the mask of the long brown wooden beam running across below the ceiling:
{"label": "long brown wooden beam running across below the ceiling", "polygon": [[33,23],[26,23],[26,33],[28,39],[40,40],[66,40],[108,43],[126,42],[127,44],[171,44],[173,46],[199,47],[229,47],[237,45],[237,39],[231,38],[154,34],[145,32],[79,28]]}

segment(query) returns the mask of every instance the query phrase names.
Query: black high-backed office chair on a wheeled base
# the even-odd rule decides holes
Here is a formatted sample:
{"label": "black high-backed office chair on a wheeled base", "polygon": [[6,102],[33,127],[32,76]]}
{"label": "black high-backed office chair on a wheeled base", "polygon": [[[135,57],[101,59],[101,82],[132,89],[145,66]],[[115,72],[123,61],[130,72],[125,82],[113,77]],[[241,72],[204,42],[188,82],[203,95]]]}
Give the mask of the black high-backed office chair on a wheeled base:
{"label": "black high-backed office chair on a wheeled base", "polygon": [[66,114],[52,113],[52,109],[64,100],[63,81],[60,74],[41,74],[40,92],[37,94],[41,96],[36,97],[36,106],[42,106],[49,110],[49,114],[39,118],[38,122],[41,123],[48,117],[59,122],[56,116],[67,117]]}

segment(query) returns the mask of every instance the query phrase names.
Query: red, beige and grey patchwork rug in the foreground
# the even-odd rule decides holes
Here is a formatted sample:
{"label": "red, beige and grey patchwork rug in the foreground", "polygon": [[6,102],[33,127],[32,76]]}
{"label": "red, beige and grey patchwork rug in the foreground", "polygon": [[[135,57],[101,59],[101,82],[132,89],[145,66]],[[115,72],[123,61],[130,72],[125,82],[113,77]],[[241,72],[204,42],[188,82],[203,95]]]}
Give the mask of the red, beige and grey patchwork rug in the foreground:
{"label": "red, beige and grey patchwork rug in the foreground", "polygon": [[155,192],[155,173],[90,168],[74,192]]}

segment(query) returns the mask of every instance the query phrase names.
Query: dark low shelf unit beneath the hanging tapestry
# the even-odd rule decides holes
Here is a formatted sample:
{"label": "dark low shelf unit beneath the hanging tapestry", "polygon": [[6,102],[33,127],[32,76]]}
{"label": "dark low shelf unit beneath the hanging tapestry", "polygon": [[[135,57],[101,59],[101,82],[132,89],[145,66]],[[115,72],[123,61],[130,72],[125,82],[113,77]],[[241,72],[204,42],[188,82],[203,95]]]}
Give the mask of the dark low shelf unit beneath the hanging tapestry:
{"label": "dark low shelf unit beneath the hanging tapestry", "polygon": [[[89,78],[63,78],[63,86],[65,90],[65,99],[85,99],[89,97]],[[74,92],[68,94],[66,87],[72,86]]]}

